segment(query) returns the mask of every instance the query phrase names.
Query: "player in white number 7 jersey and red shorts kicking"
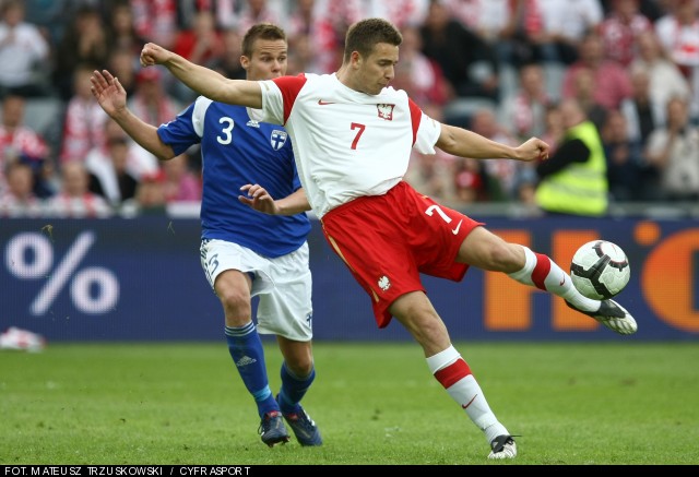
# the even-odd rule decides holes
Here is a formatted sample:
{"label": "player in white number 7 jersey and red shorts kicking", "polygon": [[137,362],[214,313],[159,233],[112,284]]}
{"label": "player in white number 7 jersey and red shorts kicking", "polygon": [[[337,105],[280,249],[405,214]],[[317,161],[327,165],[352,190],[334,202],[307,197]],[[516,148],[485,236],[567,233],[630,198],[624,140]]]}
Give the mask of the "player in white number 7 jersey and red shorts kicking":
{"label": "player in white number 7 jersey and red shorts kicking", "polygon": [[512,458],[511,433],[451,345],[419,274],[461,281],[470,265],[503,272],[560,296],[617,333],[633,333],[637,325],[613,300],[580,295],[548,257],[506,242],[403,181],[411,147],[424,154],[439,147],[462,157],[536,160],[548,157],[548,145],[532,138],[510,147],[427,117],[405,92],[389,86],[401,41],[386,20],[363,20],[347,31],[336,73],[260,82],[227,80],[154,44],[143,47],[141,63],[164,64],[200,94],[262,108],[265,119],[286,127],[309,204],[299,194],[274,201],[261,184],[245,186],[241,202],[269,214],[310,206],[328,242],[371,298],[378,326],[392,317],[401,322],[423,347],[435,378],[485,433],[488,457]]}

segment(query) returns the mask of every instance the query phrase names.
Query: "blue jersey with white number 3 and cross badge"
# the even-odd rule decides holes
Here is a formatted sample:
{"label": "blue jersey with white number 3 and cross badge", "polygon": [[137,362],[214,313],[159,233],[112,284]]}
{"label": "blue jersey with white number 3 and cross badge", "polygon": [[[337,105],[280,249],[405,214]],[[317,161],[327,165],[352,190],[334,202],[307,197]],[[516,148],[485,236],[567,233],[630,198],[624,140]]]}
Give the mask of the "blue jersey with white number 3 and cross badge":
{"label": "blue jersey with white number 3 and cross badge", "polygon": [[238,201],[246,183],[259,183],[275,199],[301,187],[283,127],[251,119],[242,106],[200,96],[157,133],[176,155],[201,143],[202,238],[235,242],[270,258],[304,245],[310,230],[306,214],[268,215]]}

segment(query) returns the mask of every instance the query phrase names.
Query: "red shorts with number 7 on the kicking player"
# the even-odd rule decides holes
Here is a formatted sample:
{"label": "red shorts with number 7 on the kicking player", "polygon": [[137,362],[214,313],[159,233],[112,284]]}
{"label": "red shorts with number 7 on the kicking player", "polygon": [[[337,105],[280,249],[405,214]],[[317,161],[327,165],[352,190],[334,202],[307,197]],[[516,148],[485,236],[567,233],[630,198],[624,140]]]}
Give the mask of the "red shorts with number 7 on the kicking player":
{"label": "red shorts with number 7 on the kicking player", "polygon": [[420,273],[461,281],[469,265],[455,262],[459,248],[484,225],[406,182],[333,208],[321,224],[330,247],[371,297],[379,327],[390,323],[388,309],[398,297],[425,291]]}

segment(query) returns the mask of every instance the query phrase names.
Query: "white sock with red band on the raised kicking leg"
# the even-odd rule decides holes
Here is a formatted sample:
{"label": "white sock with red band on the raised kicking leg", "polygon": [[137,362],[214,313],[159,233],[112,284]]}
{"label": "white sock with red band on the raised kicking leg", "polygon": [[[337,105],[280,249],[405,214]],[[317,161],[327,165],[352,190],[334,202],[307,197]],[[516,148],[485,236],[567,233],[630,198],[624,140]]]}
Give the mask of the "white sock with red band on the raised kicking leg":
{"label": "white sock with red band on the raised kicking leg", "polygon": [[549,291],[571,302],[583,311],[597,311],[600,301],[587,298],[572,285],[572,279],[550,258],[534,253],[528,247],[522,246],[526,262],[519,272],[510,273],[509,277],[529,286],[535,286],[544,291]]}

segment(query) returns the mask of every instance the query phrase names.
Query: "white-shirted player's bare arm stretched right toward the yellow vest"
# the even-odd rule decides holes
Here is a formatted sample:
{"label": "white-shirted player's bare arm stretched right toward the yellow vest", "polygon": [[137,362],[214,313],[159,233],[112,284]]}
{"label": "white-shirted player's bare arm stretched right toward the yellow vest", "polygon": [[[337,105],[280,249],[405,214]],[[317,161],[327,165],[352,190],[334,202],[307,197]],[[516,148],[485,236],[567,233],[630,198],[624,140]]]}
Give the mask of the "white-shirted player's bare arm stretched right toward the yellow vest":
{"label": "white-shirted player's bare arm stretched right toward the yellow vest", "polygon": [[532,138],[518,147],[511,147],[463,128],[443,123],[436,145],[454,156],[474,159],[508,158],[531,162],[547,159],[549,151],[548,144],[537,138]]}

